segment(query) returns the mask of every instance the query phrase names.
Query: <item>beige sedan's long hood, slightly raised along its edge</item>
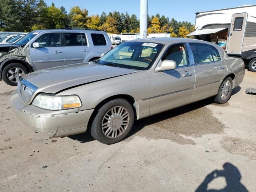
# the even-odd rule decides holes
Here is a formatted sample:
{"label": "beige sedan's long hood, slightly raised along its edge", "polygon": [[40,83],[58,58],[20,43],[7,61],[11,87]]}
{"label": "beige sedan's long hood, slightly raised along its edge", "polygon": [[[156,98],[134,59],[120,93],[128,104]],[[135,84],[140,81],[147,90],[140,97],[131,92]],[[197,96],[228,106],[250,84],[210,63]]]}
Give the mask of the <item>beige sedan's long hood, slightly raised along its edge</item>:
{"label": "beige sedan's long hood, slightly raised along its edge", "polygon": [[106,80],[137,72],[132,69],[118,68],[86,62],[49,68],[27,74],[23,78],[38,87],[37,92],[57,93],[67,88]]}

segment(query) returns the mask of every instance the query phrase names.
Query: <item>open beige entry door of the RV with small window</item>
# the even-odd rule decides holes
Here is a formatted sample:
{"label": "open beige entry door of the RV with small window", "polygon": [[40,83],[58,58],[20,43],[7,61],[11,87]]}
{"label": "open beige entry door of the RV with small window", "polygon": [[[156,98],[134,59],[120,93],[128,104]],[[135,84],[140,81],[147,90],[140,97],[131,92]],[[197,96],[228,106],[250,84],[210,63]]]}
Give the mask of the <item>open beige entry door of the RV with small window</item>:
{"label": "open beige entry door of the RV with small window", "polygon": [[232,16],[227,54],[242,54],[247,16],[247,13],[237,13]]}

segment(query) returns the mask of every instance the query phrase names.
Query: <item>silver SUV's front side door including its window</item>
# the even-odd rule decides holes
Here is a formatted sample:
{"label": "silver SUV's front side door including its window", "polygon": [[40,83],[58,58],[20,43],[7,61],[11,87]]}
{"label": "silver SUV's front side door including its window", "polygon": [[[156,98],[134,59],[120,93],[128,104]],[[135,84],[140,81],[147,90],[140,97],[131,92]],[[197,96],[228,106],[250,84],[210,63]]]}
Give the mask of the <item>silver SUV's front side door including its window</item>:
{"label": "silver SUV's front side door including its window", "polygon": [[34,42],[38,42],[40,45],[39,48],[34,48],[31,44],[29,48],[35,71],[64,65],[60,33],[42,34]]}

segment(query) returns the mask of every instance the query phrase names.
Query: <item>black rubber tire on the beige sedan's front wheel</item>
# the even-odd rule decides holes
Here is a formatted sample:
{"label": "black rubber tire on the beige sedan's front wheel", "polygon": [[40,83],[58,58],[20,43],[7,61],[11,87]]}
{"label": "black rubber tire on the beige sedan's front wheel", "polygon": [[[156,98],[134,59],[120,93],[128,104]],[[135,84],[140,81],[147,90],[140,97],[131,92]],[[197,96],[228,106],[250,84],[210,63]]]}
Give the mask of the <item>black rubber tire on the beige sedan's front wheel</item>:
{"label": "black rubber tire on the beige sedan's front wheel", "polygon": [[[106,115],[106,113],[108,113],[114,107],[124,108],[128,112],[129,116],[127,117],[127,120],[129,119],[129,121],[128,121],[127,126],[122,127],[122,128],[124,128],[123,129],[124,132],[121,133],[119,130],[115,131],[115,132],[118,133],[118,135],[120,134],[120,136],[117,136],[116,138],[109,138],[108,136],[106,136],[104,134],[104,132],[102,130],[102,124],[103,124],[104,121],[111,122],[111,128],[114,128],[114,125],[113,125],[114,123],[112,124],[111,119],[110,120],[104,119],[104,116]],[[113,118],[113,122],[114,122],[114,120],[115,120],[115,118]],[[121,124],[121,122],[120,122],[120,124]],[[134,110],[133,110],[131,104],[128,101],[124,100],[124,99],[114,99],[114,100],[111,100],[111,101],[107,102],[106,104],[104,104],[98,110],[94,120],[92,121],[92,125],[91,125],[90,130],[91,130],[91,134],[92,134],[93,138],[95,138],[96,140],[98,140],[99,142],[101,142],[103,144],[108,144],[109,145],[109,144],[114,144],[114,143],[120,142],[124,138],[126,138],[126,136],[129,134],[130,130],[132,129],[133,123],[134,123]],[[110,129],[109,132],[113,133],[114,130]],[[110,136],[111,136],[111,134],[110,134]]]}

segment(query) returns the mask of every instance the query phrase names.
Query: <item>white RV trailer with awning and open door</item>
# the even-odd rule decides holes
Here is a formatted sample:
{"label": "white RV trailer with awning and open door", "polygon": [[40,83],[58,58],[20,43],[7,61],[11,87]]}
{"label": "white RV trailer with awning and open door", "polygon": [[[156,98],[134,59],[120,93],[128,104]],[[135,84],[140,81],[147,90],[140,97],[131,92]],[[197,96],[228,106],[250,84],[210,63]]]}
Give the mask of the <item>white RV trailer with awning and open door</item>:
{"label": "white RV trailer with awning and open door", "polygon": [[197,12],[195,27],[187,36],[220,45],[256,72],[256,5]]}

